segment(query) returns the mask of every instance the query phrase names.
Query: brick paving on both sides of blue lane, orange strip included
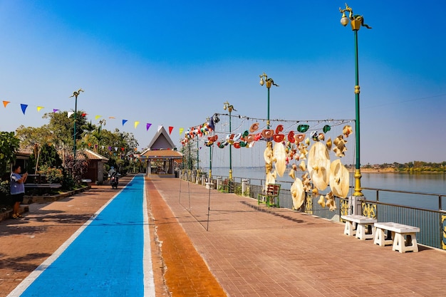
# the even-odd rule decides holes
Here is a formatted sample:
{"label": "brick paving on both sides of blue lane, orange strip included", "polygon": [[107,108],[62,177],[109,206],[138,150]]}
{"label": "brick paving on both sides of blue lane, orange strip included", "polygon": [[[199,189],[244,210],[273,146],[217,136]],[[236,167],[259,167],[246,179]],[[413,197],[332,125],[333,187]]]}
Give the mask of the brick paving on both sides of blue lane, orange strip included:
{"label": "brick paving on both sides of blue lane, orange strip included", "polygon": [[[343,224],[175,178],[151,176],[145,193],[156,296],[445,296],[444,251],[400,254],[343,235]],[[114,194],[93,186],[0,222],[0,297]]]}

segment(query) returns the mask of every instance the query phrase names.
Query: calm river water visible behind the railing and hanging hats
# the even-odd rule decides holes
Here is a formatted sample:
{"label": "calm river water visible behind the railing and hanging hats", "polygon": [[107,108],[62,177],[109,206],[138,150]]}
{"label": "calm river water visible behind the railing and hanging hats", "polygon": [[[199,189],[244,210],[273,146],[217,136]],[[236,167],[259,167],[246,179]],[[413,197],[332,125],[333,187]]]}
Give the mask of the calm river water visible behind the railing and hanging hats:
{"label": "calm river water visible behind the railing and hanging hats", "polygon": [[[209,172],[209,168],[203,168],[204,172]],[[282,184],[283,189],[291,187],[292,179],[288,176],[289,170],[283,177],[277,177],[276,181]],[[299,172],[299,171],[298,171]],[[405,192],[417,192],[435,195],[403,194],[396,192],[379,191],[379,201],[393,204],[401,204],[410,207],[425,209],[439,209],[439,196],[446,196],[446,174],[444,173],[363,173],[361,187],[373,189],[390,189]],[[213,167],[213,176],[227,177],[229,167]],[[236,179],[265,179],[264,167],[232,167],[232,176]],[[300,177],[296,174],[296,177]],[[251,180],[252,184],[259,184],[259,181]],[[350,176],[350,184],[354,185],[353,173]],[[352,194],[352,191],[349,195]],[[377,199],[376,190],[363,189],[366,199],[375,201]],[[446,209],[446,197],[442,197],[442,209]]]}

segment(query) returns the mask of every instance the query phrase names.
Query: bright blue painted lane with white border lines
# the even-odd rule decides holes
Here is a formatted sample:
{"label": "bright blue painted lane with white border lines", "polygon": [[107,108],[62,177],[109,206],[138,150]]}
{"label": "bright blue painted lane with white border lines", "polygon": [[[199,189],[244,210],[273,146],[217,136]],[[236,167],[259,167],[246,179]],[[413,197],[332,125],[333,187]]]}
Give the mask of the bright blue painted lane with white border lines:
{"label": "bright blue painted lane with white border lines", "polygon": [[134,177],[9,297],[155,296],[144,188]]}

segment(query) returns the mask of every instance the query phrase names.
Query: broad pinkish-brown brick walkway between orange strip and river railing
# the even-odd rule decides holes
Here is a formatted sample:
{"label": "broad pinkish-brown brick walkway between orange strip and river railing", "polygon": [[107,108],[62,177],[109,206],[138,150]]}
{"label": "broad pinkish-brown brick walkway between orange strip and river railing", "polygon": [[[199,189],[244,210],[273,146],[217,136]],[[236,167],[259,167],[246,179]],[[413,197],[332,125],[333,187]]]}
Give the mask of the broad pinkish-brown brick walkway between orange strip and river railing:
{"label": "broad pinkish-brown brick walkway between orange strip and river railing", "polygon": [[147,184],[155,185],[228,296],[446,295],[444,251],[420,246],[400,254],[343,235],[341,223],[265,211],[254,199],[179,179]]}

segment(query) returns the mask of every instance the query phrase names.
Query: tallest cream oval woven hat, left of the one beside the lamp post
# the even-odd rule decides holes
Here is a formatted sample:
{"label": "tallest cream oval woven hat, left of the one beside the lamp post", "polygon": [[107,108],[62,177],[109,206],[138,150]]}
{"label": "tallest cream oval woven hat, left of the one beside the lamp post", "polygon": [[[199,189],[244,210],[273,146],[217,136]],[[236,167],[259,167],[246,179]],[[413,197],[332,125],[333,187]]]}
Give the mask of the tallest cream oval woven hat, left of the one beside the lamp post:
{"label": "tallest cream oval woven hat, left of the one beside the lamp post", "polygon": [[314,187],[323,191],[328,186],[330,177],[330,156],[325,145],[315,142],[308,152],[308,172]]}

